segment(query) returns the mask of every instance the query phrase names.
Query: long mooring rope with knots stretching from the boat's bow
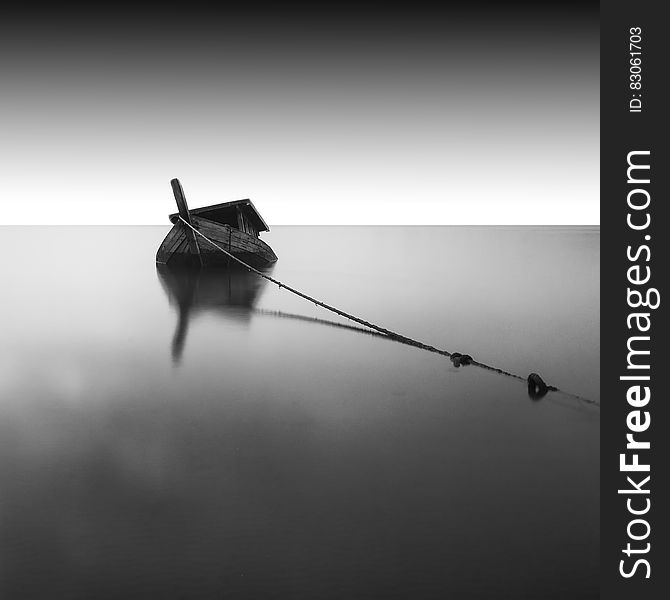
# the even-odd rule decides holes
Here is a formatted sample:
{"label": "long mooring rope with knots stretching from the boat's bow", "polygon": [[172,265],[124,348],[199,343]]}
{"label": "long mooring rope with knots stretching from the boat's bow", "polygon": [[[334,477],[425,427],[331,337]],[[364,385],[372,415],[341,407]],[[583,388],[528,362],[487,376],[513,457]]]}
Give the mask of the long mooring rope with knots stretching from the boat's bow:
{"label": "long mooring rope with knots stretching from the boat's bow", "polygon": [[[475,365],[477,367],[481,367],[482,369],[486,369],[488,371],[494,371],[495,373],[499,373],[500,375],[505,375],[507,377],[511,377],[513,379],[518,379],[519,381],[523,381],[524,383],[530,383],[530,379],[533,377],[537,377],[540,381],[541,378],[535,373],[532,373],[529,377],[522,377],[521,375],[517,375],[516,373],[510,373],[509,371],[505,371],[503,369],[499,369],[497,367],[493,367],[491,365],[487,365],[485,363],[479,362],[474,360],[470,355],[468,354],[461,354],[460,352],[448,352],[447,350],[440,350],[439,348],[436,348],[435,346],[431,346],[429,344],[424,344],[423,342],[420,342],[418,340],[409,338],[407,336],[401,335],[399,333],[396,333],[395,331],[391,331],[389,329],[386,329],[384,327],[380,327],[379,325],[375,325],[374,323],[371,323],[370,321],[366,321],[365,319],[361,319],[355,315],[352,315],[350,313],[347,313],[343,310],[340,310],[339,308],[335,308],[334,306],[331,306],[330,304],[326,304],[325,302],[322,302],[321,300],[318,300],[317,298],[313,298],[312,296],[308,296],[307,294],[301,292],[300,290],[297,290],[290,285],[285,284],[282,281],[279,281],[278,279],[275,279],[274,277],[270,277],[270,275],[267,275],[263,273],[262,271],[259,271],[258,269],[252,267],[250,264],[247,264],[243,260],[237,258],[237,256],[234,256],[221,246],[219,246],[216,242],[208,238],[204,233],[198,231],[193,225],[185,221],[181,215],[178,217],[179,220],[192,229],[195,233],[197,233],[200,237],[202,237],[204,240],[209,242],[212,246],[223,252],[228,258],[231,258],[238,264],[242,265],[245,269],[248,271],[255,273],[259,277],[262,277],[263,279],[266,279],[267,281],[270,281],[271,283],[274,283],[275,285],[279,286],[279,289],[284,288],[285,290],[288,290],[292,294],[295,294],[296,296],[299,296],[300,298],[304,298],[305,300],[308,300],[309,302],[312,302],[313,304],[317,306],[321,306],[322,308],[325,308],[326,310],[335,313],[336,315],[340,315],[341,317],[344,317],[345,319],[348,319],[350,321],[353,321],[354,323],[358,323],[360,325],[363,325],[364,327],[367,327],[369,329],[372,329],[374,331],[379,332],[380,334],[392,339],[396,340],[398,342],[401,342],[403,344],[406,344],[408,346],[414,346],[415,348],[420,348],[421,350],[426,350],[427,352],[433,352],[435,354],[440,354],[442,356],[447,356],[449,358],[452,358],[454,361],[454,364],[457,364],[458,366],[462,365]],[[544,385],[544,382],[542,382]],[[560,390],[559,388],[551,385],[547,385],[546,389],[544,390],[546,392],[561,392],[563,394],[566,394],[568,396],[571,396],[573,398],[576,398],[577,400],[580,400],[582,402],[585,402],[587,404],[593,404],[594,406],[600,406],[600,403],[595,401],[595,400],[590,400],[588,398],[583,398],[582,396],[578,396],[577,394],[571,394],[569,392],[565,392],[563,390]]]}

